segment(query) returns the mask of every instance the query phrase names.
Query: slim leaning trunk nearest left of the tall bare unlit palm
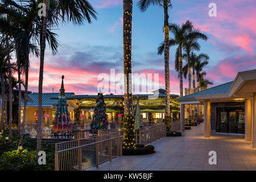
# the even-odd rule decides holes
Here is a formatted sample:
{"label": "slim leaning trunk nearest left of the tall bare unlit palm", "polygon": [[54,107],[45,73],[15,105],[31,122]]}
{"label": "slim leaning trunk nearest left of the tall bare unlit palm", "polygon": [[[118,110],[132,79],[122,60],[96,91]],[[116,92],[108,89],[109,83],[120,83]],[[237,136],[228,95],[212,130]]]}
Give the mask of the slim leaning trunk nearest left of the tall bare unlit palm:
{"label": "slim leaning trunk nearest left of the tall bare unlit palm", "polygon": [[25,122],[26,122],[26,111],[27,111],[27,88],[28,88],[28,54],[26,56],[27,59],[27,65],[25,68],[25,93],[24,93],[24,107],[23,107],[23,121],[22,121],[22,130],[21,130],[21,134],[20,134],[20,139],[19,139],[19,144],[22,145],[23,142],[23,134],[24,134],[24,130],[25,130]]}

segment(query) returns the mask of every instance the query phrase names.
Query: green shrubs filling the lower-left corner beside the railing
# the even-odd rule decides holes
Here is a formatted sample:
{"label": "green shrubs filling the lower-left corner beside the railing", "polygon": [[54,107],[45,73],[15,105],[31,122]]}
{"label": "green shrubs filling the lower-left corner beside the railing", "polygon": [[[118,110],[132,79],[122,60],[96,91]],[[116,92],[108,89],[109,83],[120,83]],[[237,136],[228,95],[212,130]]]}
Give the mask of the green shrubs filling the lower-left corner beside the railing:
{"label": "green shrubs filling the lower-left corner beside the railing", "polygon": [[46,165],[39,165],[36,160],[36,138],[23,138],[23,151],[17,151],[18,133],[14,130],[13,137],[6,140],[9,131],[0,135],[0,170],[54,170],[55,144],[42,142],[41,150],[46,152]]}

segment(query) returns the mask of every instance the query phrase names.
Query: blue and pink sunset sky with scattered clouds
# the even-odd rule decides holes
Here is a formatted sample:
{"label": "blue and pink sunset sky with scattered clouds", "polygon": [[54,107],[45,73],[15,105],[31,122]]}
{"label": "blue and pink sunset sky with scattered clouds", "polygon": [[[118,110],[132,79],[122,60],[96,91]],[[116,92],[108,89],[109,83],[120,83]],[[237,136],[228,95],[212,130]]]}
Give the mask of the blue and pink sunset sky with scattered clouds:
{"label": "blue and pink sunset sky with scattered clouds", "polygon": [[[49,49],[46,51],[44,93],[52,92],[53,88],[54,92],[59,92],[61,75],[64,75],[66,92],[96,94],[100,73],[110,75],[110,69],[123,72],[122,0],[89,2],[98,13],[97,20],[84,26],[71,23],[54,30],[59,35],[59,54],[52,55]],[[151,6],[142,13],[137,2],[134,0],[133,6],[133,73],[159,73],[159,87],[164,88],[164,56],[157,55],[157,48],[164,38],[163,9]],[[256,69],[255,0],[171,2],[170,23],[181,24],[189,19],[209,37],[207,42],[200,41],[201,50],[197,54],[209,55],[205,71],[214,85],[234,80],[237,72]],[[217,5],[217,17],[208,15],[211,2]],[[175,49],[170,49],[171,93],[179,93],[179,80],[174,70]],[[32,92],[38,92],[39,60],[31,56],[28,90]],[[184,80],[184,88],[187,86],[188,80]]]}

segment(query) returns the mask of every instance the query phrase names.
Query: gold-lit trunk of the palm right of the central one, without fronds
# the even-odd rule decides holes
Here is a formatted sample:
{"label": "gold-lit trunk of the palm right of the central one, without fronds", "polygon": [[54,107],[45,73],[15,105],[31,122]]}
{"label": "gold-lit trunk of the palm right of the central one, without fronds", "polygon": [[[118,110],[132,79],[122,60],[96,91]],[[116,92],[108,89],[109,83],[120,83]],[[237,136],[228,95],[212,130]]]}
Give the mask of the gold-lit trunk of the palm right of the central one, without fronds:
{"label": "gold-lit trunk of the palm right of the central one, without fronds", "polygon": [[170,47],[169,47],[169,23],[168,23],[168,7],[164,7],[164,77],[166,81],[166,117],[170,117]]}

